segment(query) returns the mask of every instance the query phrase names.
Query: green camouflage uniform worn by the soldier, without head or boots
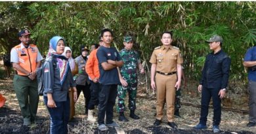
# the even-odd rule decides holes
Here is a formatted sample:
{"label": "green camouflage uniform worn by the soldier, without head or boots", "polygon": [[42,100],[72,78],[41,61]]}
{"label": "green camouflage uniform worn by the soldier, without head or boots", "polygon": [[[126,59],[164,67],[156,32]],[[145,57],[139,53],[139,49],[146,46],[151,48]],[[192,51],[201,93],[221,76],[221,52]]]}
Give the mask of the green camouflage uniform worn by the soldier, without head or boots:
{"label": "green camouflage uniform worn by the soldier, without head or boots", "polygon": [[117,88],[117,111],[125,111],[125,96],[129,93],[129,110],[136,109],[137,95],[137,65],[140,63],[139,54],[135,50],[123,49],[119,52],[123,59],[123,67],[120,68],[121,76],[127,82],[128,86],[118,86]]}

